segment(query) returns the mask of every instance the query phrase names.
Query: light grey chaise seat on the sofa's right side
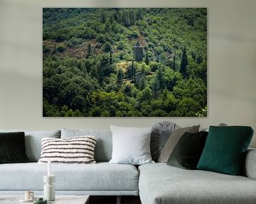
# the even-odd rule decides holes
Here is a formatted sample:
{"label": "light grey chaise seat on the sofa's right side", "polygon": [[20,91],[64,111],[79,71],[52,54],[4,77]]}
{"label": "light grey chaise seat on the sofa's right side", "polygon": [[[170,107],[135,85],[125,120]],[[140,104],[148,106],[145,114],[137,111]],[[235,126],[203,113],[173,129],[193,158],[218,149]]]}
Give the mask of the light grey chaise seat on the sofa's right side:
{"label": "light grey chaise seat on the sofa's right side", "polygon": [[256,180],[163,163],[139,166],[142,204],[255,203]]}

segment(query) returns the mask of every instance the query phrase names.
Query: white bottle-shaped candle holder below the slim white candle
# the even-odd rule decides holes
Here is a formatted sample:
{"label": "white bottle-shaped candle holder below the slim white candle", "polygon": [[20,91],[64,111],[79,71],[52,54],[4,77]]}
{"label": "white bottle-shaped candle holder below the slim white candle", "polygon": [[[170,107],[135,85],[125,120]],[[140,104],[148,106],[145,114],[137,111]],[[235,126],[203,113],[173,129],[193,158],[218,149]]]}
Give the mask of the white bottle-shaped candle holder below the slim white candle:
{"label": "white bottle-shaped candle holder below the slim white candle", "polygon": [[48,201],[55,200],[55,175],[43,176],[43,182],[46,184],[43,186],[43,198]]}

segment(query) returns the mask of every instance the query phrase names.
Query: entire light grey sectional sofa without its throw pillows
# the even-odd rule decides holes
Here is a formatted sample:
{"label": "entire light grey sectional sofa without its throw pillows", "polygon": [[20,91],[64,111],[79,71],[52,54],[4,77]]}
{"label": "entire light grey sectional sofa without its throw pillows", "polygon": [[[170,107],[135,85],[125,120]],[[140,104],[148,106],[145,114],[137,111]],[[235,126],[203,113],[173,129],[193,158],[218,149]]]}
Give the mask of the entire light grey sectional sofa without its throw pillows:
{"label": "entire light grey sectional sofa without its throw pillows", "polygon": [[[0,132],[10,130],[0,130]],[[25,131],[29,163],[0,164],[0,197],[33,190],[43,193],[47,165],[38,164],[43,137],[95,135],[97,164],[52,164],[56,194],[140,196],[142,204],[164,203],[256,203],[256,149],[245,158],[244,176],[210,171],[184,170],[164,163],[133,166],[109,164],[112,157],[110,131]],[[117,199],[119,202],[120,199]]]}

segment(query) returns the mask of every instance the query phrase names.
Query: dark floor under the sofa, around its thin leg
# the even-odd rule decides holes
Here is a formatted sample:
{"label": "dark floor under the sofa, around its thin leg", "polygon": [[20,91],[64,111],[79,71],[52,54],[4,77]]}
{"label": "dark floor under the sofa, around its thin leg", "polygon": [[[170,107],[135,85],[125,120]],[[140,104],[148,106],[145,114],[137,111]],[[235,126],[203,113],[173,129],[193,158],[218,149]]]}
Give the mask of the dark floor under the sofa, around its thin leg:
{"label": "dark floor under the sofa, around its thin leg", "polygon": [[[117,196],[90,196],[90,204],[116,204]],[[122,196],[122,204],[142,204],[139,196]]]}

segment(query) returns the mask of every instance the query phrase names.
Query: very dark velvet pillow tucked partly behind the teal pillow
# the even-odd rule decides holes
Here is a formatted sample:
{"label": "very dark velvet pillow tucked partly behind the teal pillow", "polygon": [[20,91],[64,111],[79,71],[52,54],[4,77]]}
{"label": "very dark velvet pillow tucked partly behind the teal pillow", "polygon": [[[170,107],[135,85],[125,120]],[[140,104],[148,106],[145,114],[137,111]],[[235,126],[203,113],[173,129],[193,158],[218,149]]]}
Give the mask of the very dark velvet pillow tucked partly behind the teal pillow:
{"label": "very dark velvet pillow tucked partly behind the teal pillow", "polygon": [[207,135],[206,131],[185,132],[171,152],[167,164],[181,169],[196,169]]}

